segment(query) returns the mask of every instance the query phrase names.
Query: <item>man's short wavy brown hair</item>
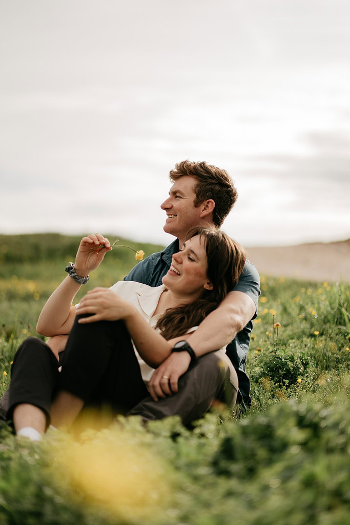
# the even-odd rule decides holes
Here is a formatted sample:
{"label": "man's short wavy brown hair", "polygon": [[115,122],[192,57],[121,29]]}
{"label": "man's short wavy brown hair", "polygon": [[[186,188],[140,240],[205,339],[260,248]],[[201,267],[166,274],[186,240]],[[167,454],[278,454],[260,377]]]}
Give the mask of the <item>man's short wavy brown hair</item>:
{"label": "man's short wavy brown hair", "polygon": [[197,180],[194,188],[194,206],[207,199],[213,199],[215,202],[213,222],[220,227],[224,218],[231,212],[238,196],[232,178],[226,170],[221,170],[212,164],[189,160],[178,162],[175,164],[175,169],[169,173],[171,182],[177,181],[184,175]]}

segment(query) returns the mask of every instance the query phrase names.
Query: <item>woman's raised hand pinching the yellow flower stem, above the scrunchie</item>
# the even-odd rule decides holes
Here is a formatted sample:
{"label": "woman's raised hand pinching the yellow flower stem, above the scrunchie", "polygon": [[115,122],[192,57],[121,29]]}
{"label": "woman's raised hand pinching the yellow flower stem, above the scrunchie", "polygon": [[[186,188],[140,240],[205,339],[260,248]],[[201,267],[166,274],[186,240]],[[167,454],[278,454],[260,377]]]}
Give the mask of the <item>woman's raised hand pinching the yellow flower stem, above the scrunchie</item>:
{"label": "woman's raised hand pinching the yellow flower stem, above the scrunchie", "polygon": [[[104,248],[101,248],[102,245]],[[75,272],[80,277],[87,277],[92,270],[100,266],[107,251],[111,250],[110,241],[99,233],[83,237],[75,256]]]}

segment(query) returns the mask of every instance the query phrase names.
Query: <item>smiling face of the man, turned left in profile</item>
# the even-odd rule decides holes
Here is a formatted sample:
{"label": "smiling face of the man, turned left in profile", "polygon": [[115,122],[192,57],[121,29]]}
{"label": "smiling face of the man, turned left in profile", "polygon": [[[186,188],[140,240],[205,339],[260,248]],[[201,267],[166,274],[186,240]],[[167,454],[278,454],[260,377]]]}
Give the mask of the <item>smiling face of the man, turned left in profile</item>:
{"label": "smiling face of the man, turned left in profile", "polygon": [[183,242],[191,228],[201,224],[200,206],[194,206],[196,180],[184,175],[173,183],[169,197],[160,207],[167,214],[163,230]]}

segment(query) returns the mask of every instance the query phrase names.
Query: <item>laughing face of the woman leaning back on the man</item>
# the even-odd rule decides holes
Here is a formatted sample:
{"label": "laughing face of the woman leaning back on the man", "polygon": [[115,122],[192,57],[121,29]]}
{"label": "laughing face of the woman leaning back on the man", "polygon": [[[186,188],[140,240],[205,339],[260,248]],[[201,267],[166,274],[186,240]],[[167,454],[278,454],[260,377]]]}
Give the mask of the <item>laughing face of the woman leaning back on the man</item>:
{"label": "laughing face of the woman leaning back on the man", "polygon": [[191,302],[198,299],[204,289],[213,289],[206,270],[204,239],[195,235],[183,243],[181,251],[172,256],[170,269],[162,278],[162,283],[183,300]]}

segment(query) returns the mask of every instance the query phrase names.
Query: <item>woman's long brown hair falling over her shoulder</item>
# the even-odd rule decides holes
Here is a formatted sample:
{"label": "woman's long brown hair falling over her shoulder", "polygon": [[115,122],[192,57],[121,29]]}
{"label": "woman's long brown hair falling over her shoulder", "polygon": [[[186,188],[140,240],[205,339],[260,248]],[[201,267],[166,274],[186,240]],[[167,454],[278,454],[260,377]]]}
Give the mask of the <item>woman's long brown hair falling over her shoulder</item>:
{"label": "woman's long brown hair falling over her shoulder", "polygon": [[195,235],[199,235],[205,245],[206,275],[213,285],[213,290],[203,288],[199,299],[165,311],[157,322],[156,328],[167,340],[184,335],[215,310],[237,284],[246,261],[245,249],[220,229],[194,228],[188,233],[187,238],[190,239]]}

